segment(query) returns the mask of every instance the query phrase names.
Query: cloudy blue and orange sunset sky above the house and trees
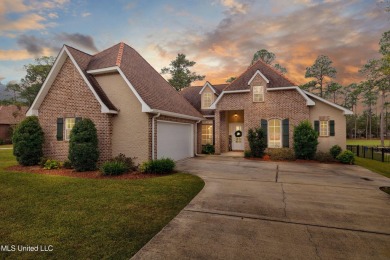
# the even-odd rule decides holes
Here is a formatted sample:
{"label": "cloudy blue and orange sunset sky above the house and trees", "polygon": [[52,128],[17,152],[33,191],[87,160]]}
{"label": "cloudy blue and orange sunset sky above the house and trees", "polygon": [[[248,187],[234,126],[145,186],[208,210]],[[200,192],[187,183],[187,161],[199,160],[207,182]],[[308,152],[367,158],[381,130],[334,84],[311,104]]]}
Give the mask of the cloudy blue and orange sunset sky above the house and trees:
{"label": "cloudy blue and orange sunset sky above the house and trees", "polygon": [[159,72],[184,53],[214,84],[243,72],[260,49],[302,84],[324,54],[345,85],[361,80],[389,29],[375,0],[0,0],[0,81],[20,80],[24,64],[63,44],[94,54],[124,41]]}

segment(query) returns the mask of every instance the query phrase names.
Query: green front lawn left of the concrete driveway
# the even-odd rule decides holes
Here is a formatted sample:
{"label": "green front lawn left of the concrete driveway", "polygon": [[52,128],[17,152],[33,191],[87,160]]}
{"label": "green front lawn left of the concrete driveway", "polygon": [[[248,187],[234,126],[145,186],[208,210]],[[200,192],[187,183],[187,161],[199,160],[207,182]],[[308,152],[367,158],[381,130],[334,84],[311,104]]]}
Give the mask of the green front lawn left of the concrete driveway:
{"label": "green front lawn left of the concrete driveway", "polygon": [[15,164],[0,149],[0,244],[54,250],[0,251],[1,259],[129,259],[204,186],[183,173],[97,180],[5,170]]}

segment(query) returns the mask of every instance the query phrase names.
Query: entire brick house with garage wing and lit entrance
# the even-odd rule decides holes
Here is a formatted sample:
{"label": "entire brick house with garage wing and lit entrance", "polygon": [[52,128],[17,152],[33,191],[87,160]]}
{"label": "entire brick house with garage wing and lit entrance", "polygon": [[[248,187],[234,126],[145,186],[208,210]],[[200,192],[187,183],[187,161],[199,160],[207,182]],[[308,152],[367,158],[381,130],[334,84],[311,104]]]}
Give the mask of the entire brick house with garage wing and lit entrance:
{"label": "entire brick house with garage wing and lit entrance", "polygon": [[344,115],[351,113],[261,61],[231,84],[177,92],[124,43],[95,55],[64,45],[27,111],[45,133],[45,157],[66,160],[75,122],[90,118],[100,162],[123,153],[137,163],[192,157],[207,143],[217,154],[247,150],[246,131],[256,126],[267,129],[268,147],[292,147],[293,126],[305,119],[320,132],[320,150],[345,147]]}

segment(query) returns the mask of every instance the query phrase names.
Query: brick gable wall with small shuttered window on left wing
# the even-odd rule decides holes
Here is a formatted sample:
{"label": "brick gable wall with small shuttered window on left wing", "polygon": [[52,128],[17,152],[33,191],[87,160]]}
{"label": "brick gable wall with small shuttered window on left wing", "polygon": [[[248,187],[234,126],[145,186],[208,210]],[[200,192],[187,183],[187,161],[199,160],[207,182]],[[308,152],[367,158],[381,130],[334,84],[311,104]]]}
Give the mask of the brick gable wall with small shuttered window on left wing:
{"label": "brick gable wall with small shuttered window on left wing", "polygon": [[44,156],[67,160],[69,142],[57,141],[57,118],[90,118],[96,125],[102,162],[111,158],[111,115],[102,114],[101,107],[69,58],[39,108],[39,121],[45,133]]}

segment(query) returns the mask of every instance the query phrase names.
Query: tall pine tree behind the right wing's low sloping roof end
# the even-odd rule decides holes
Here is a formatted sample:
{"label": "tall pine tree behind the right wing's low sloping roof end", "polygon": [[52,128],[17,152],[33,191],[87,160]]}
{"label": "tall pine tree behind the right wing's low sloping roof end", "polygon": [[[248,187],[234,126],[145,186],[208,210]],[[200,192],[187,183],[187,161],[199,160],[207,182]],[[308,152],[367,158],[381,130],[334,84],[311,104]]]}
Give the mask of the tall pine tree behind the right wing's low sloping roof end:
{"label": "tall pine tree behind the right wing's low sloping roof end", "polygon": [[305,78],[315,78],[315,80],[310,81],[310,84],[304,84],[302,88],[306,87],[311,91],[319,90],[319,96],[324,97],[326,78],[335,78],[337,73],[336,69],[331,66],[332,63],[328,56],[318,56],[314,64],[306,68],[305,74]]}

